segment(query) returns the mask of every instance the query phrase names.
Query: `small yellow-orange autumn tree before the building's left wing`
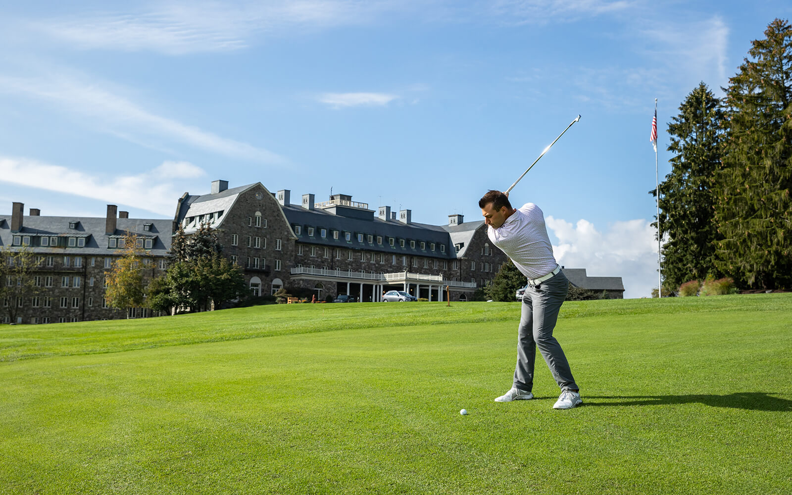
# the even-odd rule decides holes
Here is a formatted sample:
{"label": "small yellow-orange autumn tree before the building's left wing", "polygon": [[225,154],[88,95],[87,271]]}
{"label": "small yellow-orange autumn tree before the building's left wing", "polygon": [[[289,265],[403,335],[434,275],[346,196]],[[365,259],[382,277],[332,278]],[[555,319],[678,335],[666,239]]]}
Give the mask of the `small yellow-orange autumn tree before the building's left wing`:
{"label": "small yellow-orange autumn tree before the building's left wing", "polygon": [[124,236],[124,254],[112,264],[107,275],[105,298],[109,306],[120,310],[143,307],[142,260],[143,249],[138,246],[137,234],[127,232]]}

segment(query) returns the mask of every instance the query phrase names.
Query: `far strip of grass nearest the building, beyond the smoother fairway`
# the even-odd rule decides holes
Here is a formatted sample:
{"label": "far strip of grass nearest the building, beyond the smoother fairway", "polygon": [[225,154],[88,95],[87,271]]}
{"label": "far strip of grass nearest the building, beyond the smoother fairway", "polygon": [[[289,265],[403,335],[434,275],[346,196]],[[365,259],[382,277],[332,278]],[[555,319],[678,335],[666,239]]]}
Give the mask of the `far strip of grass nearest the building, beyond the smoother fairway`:
{"label": "far strip of grass nearest the building, beyond the smoother fairway", "polygon": [[[733,310],[766,314],[790,305],[792,294],[569,301],[561,318]],[[520,303],[287,304],[138,320],[0,326],[0,362],[345,329],[512,322],[519,311]]]}

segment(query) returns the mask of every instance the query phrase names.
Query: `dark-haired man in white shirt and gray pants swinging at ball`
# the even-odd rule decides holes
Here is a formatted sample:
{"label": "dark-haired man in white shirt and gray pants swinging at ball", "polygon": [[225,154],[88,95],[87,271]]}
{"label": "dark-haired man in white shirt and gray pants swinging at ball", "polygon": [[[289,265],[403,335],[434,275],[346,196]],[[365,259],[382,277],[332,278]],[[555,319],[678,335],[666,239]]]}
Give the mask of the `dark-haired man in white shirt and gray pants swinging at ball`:
{"label": "dark-haired man in white shirt and gray pants swinging at ball", "polygon": [[553,256],[553,246],[547,235],[542,210],[533,203],[524,204],[520,209],[512,208],[508,192],[501,191],[487,192],[478,201],[478,206],[482,208],[489,240],[506,253],[528,279],[520,305],[522,310],[514,381],[512,388],[496,398],[495,402],[534,397],[531,390],[534,386],[536,348],[539,347],[547,367],[550,367],[550,373],[561,387],[561,396],[554,409],[580,406],[583,403],[580,390],[561,345],[553,337],[558,311],[569,289],[569,280]]}

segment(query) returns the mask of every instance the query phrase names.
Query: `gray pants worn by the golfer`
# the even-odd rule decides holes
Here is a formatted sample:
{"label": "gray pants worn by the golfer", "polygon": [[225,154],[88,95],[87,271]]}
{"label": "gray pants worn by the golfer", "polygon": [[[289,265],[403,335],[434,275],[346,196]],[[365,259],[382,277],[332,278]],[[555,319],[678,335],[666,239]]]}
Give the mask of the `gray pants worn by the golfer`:
{"label": "gray pants worn by the golfer", "polygon": [[562,390],[578,390],[564,351],[553,337],[558,311],[561,310],[568,288],[569,280],[561,271],[539,285],[529,285],[523,295],[517,338],[517,366],[514,370],[514,386],[520,390],[533,390],[537,347],[558,386]]}

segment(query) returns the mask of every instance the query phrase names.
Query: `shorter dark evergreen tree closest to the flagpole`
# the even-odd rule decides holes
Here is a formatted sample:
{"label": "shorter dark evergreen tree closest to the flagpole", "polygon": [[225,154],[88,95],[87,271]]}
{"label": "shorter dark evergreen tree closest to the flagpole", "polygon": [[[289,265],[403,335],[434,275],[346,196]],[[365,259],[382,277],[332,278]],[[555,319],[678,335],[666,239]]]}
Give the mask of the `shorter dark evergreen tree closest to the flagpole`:
{"label": "shorter dark evergreen tree closest to the flagpole", "polygon": [[[723,122],[720,101],[701,82],[668,124],[668,151],[674,157],[671,173],[660,184],[660,232],[668,239],[662,248],[663,278],[672,287],[716,272],[712,181],[720,165]],[[657,191],[649,194],[657,196]]]}

